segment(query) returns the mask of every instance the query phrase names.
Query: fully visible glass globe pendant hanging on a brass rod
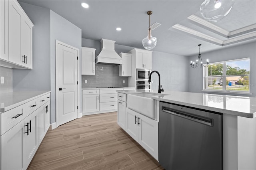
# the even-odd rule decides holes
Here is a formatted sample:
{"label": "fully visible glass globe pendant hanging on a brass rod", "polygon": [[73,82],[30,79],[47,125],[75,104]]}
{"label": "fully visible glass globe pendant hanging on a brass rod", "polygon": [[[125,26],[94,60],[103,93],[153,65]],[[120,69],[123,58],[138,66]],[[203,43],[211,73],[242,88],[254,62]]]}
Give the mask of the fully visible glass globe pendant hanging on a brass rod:
{"label": "fully visible glass globe pendant hanging on a brass rod", "polygon": [[148,36],[142,40],[142,45],[145,49],[151,50],[156,46],[157,38],[152,37],[150,29],[150,15],[152,14],[152,11],[148,11],[147,14],[149,15]]}

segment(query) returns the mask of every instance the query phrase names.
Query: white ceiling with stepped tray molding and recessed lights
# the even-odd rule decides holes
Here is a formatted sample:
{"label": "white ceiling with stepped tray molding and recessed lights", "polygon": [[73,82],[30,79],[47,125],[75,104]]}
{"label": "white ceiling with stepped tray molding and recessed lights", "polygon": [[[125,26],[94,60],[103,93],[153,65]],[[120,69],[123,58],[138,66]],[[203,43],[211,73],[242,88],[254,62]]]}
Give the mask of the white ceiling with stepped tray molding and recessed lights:
{"label": "white ceiling with stepped tray molding and recessed lights", "polygon": [[[152,10],[151,24],[161,24],[152,30],[152,36],[158,39],[153,50],[177,55],[197,54],[198,44],[202,44],[201,53],[204,53],[256,41],[256,0],[235,0],[230,13],[214,23],[202,19],[200,5],[204,0],[18,1],[56,12],[81,28],[82,38],[98,41],[104,38],[115,40],[116,44],[137,48],[143,48],[142,39],[147,36],[149,22],[147,11]],[[90,7],[82,8],[82,2],[86,2]],[[195,22],[193,18],[199,22]],[[235,37],[228,36],[235,30],[248,26],[252,28],[250,31],[247,29]],[[118,32],[116,27],[121,27],[122,30]],[[212,30],[212,27],[218,29]],[[195,31],[197,34],[192,34]],[[227,35],[224,35],[224,32],[227,32]],[[250,34],[250,38],[247,34]],[[239,36],[245,38],[237,41]]]}

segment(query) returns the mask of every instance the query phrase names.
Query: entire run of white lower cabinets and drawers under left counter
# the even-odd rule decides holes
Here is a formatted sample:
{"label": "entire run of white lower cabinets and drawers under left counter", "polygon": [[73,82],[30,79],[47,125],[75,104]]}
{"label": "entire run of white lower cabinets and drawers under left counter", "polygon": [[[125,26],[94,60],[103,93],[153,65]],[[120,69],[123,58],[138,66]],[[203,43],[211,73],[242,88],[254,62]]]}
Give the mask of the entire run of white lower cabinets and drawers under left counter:
{"label": "entire run of white lower cabinets and drawers under left counter", "polygon": [[0,170],[26,170],[50,127],[50,93],[1,113],[0,120]]}

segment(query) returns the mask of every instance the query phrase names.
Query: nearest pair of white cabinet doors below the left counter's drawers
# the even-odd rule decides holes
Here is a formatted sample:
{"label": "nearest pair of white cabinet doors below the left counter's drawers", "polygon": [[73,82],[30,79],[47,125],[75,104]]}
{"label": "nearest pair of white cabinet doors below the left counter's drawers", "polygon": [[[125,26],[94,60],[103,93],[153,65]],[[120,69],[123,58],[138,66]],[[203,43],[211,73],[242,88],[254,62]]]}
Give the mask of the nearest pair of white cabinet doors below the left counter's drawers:
{"label": "nearest pair of white cabinet doors below the left counter's drawers", "polygon": [[38,111],[12,127],[1,137],[1,169],[21,170],[28,168],[38,148]]}

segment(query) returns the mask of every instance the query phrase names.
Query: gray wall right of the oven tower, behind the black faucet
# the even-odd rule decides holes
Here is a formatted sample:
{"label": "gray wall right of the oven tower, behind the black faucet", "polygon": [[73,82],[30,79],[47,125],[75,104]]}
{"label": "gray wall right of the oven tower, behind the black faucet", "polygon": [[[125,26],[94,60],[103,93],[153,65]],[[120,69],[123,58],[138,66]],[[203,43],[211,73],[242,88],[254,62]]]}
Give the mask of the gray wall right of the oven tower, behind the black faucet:
{"label": "gray wall right of the oven tower, behind the black faucet", "polygon": [[[188,57],[152,52],[152,71],[156,70],[161,76],[161,85],[168,91],[188,91]],[[158,89],[158,75],[152,74],[152,89]]]}

